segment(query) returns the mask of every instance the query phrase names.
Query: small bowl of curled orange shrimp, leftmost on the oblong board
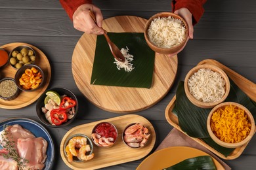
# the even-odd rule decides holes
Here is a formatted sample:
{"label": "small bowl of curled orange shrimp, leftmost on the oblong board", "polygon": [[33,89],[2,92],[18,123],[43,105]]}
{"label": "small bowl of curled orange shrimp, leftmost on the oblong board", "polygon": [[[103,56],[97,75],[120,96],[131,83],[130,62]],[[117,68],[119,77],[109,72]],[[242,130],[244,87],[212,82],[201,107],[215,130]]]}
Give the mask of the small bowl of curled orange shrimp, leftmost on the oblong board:
{"label": "small bowl of curled orange shrimp, leftmost on the oblong board", "polygon": [[93,143],[87,135],[72,135],[64,143],[65,156],[68,162],[89,161],[94,158]]}

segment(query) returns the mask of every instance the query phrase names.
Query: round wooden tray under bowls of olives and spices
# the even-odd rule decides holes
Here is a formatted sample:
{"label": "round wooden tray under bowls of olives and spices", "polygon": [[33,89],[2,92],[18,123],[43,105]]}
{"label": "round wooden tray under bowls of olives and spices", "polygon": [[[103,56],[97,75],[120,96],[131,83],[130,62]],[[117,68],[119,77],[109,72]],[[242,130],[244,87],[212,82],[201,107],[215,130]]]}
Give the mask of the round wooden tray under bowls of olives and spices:
{"label": "round wooden tray under bowls of olives and spices", "polygon": [[[37,47],[22,42],[14,42],[11,44],[5,44],[1,46],[1,48],[5,48],[5,50],[7,50],[7,52],[9,53],[13,48],[21,45],[31,46],[33,50],[35,50],[35,65],[38,65],[39,67],[41,67],[41,69],[43,69],[43,73],[45,73],[45,84],[42,88],[39,88],[38,90],[35,90],[33,92],[20,92],[20,95],[18,95],[18,97],[12,101],[5,101],[3,99],[0,99],[0,108],[3,109],[20,109],[22,107],[26,107],[32,104],[40,97],[43,92],[45,92],[51,80],[51,65],[45,54],[43,54],[43,52],[41,52],[41,50],[39,50]],[[11,65],[6,65],[5,67],[1,68],[1,76],[2,78],[14,78],[16,71],[17,70],[14,69]]]}

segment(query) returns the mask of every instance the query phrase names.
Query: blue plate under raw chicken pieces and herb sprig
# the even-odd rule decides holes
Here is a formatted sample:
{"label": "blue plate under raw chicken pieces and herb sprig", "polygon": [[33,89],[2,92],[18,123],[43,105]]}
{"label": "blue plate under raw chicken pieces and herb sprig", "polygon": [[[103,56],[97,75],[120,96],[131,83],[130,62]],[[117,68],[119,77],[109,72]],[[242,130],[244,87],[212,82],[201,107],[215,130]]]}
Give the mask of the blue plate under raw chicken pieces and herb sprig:
{"label": "blue plate under raw chicken pieces and herb sprig", "polygon": [[53,139],[51,138],[49,132],[45,127],[41,126],[41,124],[35,122],[35,120],[31,120],[29,118],[10,118],[7,120],[3,120],[0,122],[0,131],[3,131],[3,127],[5,125],[14,125],[19,124],[25,129],[28,129],[35,135],[35,137],[43,137],[48,143],[47,146],[47,160],[45,161],[45,170],[51,169],[53,167],[54,160],[54,144]]}

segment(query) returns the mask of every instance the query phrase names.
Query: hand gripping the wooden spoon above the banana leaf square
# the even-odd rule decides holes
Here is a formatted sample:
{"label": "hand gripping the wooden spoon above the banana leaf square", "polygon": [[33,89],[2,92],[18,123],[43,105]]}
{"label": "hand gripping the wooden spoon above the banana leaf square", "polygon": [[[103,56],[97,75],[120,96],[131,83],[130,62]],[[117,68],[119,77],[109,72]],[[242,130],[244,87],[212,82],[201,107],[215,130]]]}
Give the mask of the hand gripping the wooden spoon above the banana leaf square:
{"label": "hand gripping the wooden spoon above the banana leaf square", "polygon": [[[94,12],[97,24],[91,18],[89,10]],[[73,25],[75,29],[89,34],[100,35],[104,33],[102,20],[103,16],[100,9],[89,3],[79,6],[73,14]]]}

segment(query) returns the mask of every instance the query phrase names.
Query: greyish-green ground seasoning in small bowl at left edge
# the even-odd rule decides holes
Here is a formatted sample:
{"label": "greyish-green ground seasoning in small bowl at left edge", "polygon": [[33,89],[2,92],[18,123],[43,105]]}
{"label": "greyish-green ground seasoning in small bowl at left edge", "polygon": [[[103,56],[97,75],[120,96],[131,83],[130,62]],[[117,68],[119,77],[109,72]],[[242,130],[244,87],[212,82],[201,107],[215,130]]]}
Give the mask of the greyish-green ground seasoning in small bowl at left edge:
{"label": "greyish-green ground seasoning in small bowl at left edge", "polygon": [[2,97],[11,97],[16,93],[17,86],[14,81],[12,80],[3,80],[0,83],[0,95]]}

